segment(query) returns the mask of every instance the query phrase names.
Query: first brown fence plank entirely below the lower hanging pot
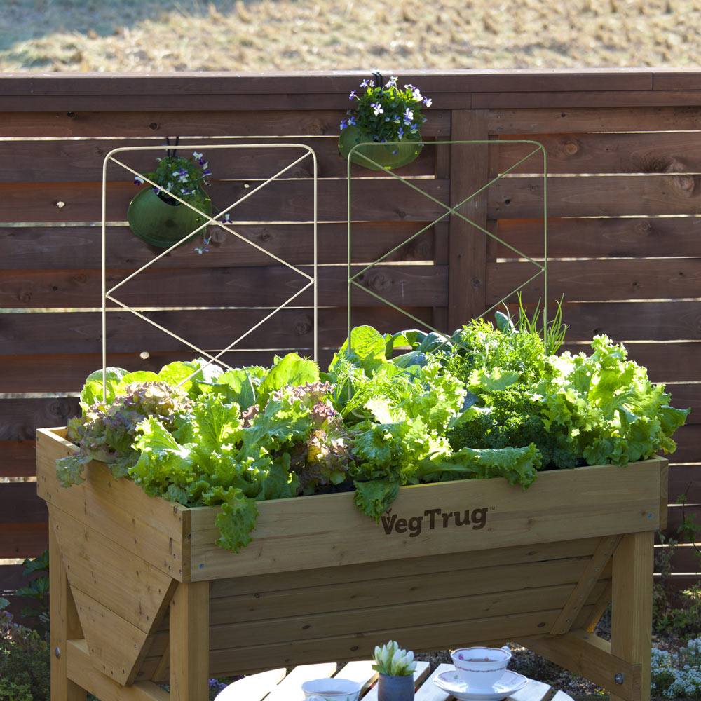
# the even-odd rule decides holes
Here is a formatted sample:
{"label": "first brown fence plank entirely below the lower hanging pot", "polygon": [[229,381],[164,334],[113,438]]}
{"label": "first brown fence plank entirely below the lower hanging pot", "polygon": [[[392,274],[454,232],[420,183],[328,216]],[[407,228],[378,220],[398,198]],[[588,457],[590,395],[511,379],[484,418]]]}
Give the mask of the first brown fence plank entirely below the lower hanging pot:
{"label": "first brown fence plank entirely below the lower hanging pot", "polygon": [[[307,275],[310,266],[299,266]],[[362,273],[354,267],[358,285],[351,290],[351,304],[376,306],[365,290],[403,306],[446,306],[447,266],[374,266]],[[133,271],[108,271],[107,290]],[[346,266],[318,268],[320,306],[346,306]],[[231,307],[275,308],[308,284],[290,268],[177,268],[147,270],[119,287],[113,296],[133,307]],[[362,289],[362,288],[365,288]],[[294,306],[311,306],[311,287],[294,299]],[[102,275],[85,271],[8,271],[0,280],[0,306],[7,308],[85,308],[102,306]],[[108,306],[114,306],[108,304]],[[261,313],[261,318],[264,314]]]}

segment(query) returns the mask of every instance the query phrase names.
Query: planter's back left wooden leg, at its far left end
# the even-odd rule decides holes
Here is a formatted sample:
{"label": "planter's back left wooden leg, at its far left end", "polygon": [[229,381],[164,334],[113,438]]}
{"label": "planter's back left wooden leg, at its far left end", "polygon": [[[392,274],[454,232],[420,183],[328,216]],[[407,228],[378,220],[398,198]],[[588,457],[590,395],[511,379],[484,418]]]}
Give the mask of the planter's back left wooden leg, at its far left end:
{"label": "planter's back left wooden leg, at its far left end", "polygon": [[50,516],[48,526],[51,701],[86,701],[86,690],[67,676],[68,641],[83,631]]}

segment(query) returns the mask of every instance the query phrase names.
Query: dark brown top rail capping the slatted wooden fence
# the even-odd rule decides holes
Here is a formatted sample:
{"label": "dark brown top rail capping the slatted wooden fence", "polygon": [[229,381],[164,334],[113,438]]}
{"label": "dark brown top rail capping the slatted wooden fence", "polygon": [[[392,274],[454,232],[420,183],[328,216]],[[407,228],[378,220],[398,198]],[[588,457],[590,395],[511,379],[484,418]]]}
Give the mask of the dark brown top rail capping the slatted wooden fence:
{"label": "dark brown top rail capping the slatted wooden fence", "polygon": [[[0,76],[7,112],[240,111],[346,109],[367,71],[8,73]],[[394,71],[382,69],[386,78]],[[697,69],[572,69],[398,72],[442,109],[642,107],[701,104]]]}

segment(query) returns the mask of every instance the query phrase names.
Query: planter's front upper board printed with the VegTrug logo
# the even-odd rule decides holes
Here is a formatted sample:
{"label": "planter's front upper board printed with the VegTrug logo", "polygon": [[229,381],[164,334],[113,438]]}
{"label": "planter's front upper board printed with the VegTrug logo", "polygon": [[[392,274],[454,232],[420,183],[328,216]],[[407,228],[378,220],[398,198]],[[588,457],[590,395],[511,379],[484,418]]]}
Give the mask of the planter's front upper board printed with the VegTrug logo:
{"label": "planter's front upper board printed with the VegTrug logo", "polygon": [[[626,533],[654,530],[655,519],[659,517],[660,494],[659,483],[655,486],[653,475],[659,470],[658,458],[626,468],[599,466],[582,468],[578,472],[553,470],[541,474],[526,493],[518,490],[518,494],[505,481],[498,479],[442,483],[436,489],[431,485],[430,491],[426,486],[405,487],[393,504],[393,512],[407,518],[414,514],[423,515],[428,496],[431,503],[441,505],[444,512],[458,508],[458,503],[483,504],[488,509],[498,504],[489,512],[489,530],[472,527],[461,531],[427,531],[424,528],[421,538],[416,539],[394,537],[392,533],[387,538],[375,538],[377,529],[382,526],[374,524],[360,512],[344,509],[347,494],[310,497],[317,500],[313,512],[305,505],[304,499],[261,502],[254,542],[237,555],[235,562],[219,557],[220,552],[213,545],[218,532],[214,525],[215,512],[195,508],[191,510],[192,577],[193,580],[203,580],[260,574],[268,571],[263,569],[263,563],[271,559],[280,571],[293,571],[310,566],[368,562],[376,558],[401,559],[409,554],[418,557],[427,552],[449,553],[465,548],[483,550],[499,547],[497,543],[503,543],[499,539],[504,533],[508,533],[513,545],[552,543],[584,533],[594,536],[621,532],[610,530],[613,520],[618,523],[618,529]],[[601,487],[601,479],[606,480],[605,489]],[[632,496],[636,488],[641,492]],[[643,496],[643,490],[652,490],[653,493]],[[587,503],[586,508],[583,502]],[[540,508],[538,504],[541,503],[547,503],[547,509]],[[592,503],[596,503],[596,508],[592,508]],[[623,503],[627,504],[625,513],[621,510]],[[532,514],[536,511],[541,515],[533,519]],[[339,517],[341,513],[343,519]],[[562,531],[558,527],[553,531],[552,520],[564,514],[567,515],[568,529]],[[294,548],[290,545],[292,538],[299,543]],[[372,551],[363,545],[368,538],[372,538]],[[329,539],[334,547],[324,545]],[[301,562],[306,563],[305,568],[300,566]]]}

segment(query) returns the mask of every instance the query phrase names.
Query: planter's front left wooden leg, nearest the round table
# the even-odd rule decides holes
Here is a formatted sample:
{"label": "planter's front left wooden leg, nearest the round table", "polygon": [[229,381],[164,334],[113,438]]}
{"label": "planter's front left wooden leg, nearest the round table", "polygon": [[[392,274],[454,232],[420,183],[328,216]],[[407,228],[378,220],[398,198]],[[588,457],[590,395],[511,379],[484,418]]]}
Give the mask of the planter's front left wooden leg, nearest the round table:
{"label": "planter's front left wooden leg, nearest the round table", "polygon": [[170,601],[170,701],[207,701],[210,583],[181,583]]}

